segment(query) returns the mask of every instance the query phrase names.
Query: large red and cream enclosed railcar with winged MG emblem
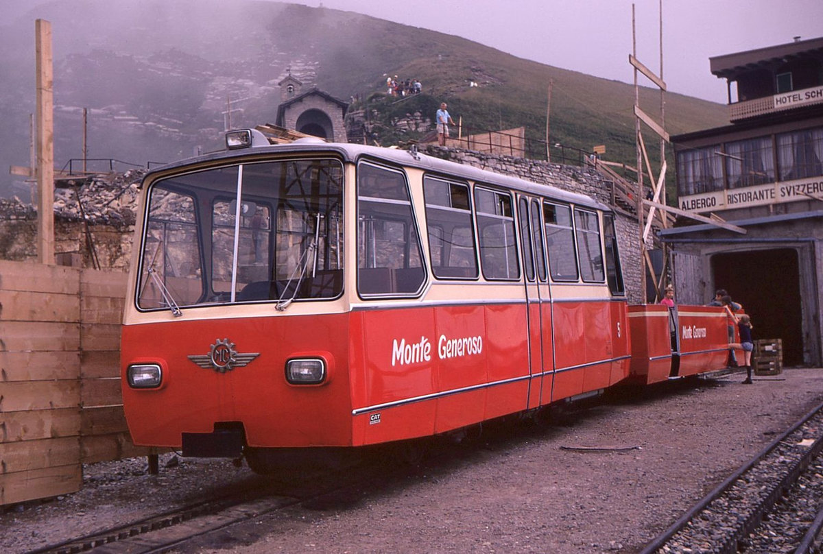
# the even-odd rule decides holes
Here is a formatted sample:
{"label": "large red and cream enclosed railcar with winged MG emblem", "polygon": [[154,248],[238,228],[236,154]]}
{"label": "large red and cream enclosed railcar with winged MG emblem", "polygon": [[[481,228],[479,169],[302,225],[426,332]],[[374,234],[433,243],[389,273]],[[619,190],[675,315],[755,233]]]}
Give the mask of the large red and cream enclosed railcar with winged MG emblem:
{"label": "large red and cream enclosed railcar with winged MG emblem", "polygon": [[266,469],[629,375],[607,206],[416,151],[226,138],[142,184],[122,334],[135,444]]}

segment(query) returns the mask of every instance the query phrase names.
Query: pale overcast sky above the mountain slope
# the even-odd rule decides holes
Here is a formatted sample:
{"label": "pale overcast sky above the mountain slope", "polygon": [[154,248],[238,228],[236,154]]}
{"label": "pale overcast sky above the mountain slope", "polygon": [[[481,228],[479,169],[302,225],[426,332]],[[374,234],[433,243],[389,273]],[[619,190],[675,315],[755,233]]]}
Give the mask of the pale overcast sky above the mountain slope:
{"label": "pale overcast sky above the mountain slope", "polygon": [[[458,35],[558,68],[632,82],[630,0],[286,0]],[[660,72],[660,2],[635,0],[637,55]],[[823,36],[823,0],[663,0],[668,90],[726,104],[709,58]],[[642,77],[641,77],[642,79]],[[650,85],[649,81],[640,81]]]}

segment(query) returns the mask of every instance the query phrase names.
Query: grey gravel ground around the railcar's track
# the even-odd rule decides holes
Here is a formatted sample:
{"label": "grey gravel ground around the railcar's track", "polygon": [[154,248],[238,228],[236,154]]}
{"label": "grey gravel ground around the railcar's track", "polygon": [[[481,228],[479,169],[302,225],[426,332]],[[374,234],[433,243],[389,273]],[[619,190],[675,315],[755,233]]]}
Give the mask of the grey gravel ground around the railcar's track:
{"label": "grey gravel ground around the railcar's track", "polygon": [[[656,388],[663,394],[610,396],[548,425],[495,426],[472,445],[425,459],[402,482],[252,519],[199,552],[639,552],[823,401],[821,369],[741,380],[667,383]],[[584,446],[602,448],[577,448]],[[161,457],[158,476],[146,474],[145,459],[93,464],[80,492],[0,514],[0,552],[27,552],[262,479],[230,462],[173,454]]]}

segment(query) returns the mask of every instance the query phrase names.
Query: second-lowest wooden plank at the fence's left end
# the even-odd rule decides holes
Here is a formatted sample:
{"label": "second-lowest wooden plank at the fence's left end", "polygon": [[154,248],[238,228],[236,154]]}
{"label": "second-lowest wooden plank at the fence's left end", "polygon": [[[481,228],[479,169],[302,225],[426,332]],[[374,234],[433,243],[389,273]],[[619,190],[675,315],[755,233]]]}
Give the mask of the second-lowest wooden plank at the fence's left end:
{"label": "second-lowest wooden plank at the fence's left end", "polygon": [[0,475],[80,463],[80,437],[19,440],[0,445]]}

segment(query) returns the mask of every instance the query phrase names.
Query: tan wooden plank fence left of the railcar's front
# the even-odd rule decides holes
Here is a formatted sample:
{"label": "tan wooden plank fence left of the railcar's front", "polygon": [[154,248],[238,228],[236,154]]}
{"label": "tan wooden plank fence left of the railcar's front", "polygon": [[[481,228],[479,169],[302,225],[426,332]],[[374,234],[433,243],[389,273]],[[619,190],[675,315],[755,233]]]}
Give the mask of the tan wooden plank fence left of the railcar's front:
{"label": "tan wooden plank fence left of the railcar's front", "polygon": [[0,261],[0,505],[78,491],[132,445],[119,381],[126,273]]}

